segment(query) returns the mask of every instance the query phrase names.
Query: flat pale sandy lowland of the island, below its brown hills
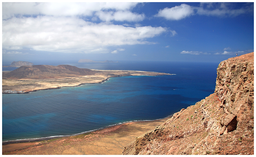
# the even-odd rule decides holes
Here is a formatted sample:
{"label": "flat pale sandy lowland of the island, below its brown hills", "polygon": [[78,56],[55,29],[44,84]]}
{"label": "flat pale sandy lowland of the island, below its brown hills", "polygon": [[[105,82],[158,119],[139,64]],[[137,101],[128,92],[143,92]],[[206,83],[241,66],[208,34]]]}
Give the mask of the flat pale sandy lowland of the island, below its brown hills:
{"label": "flat pale sandy lowland of the island, below its brown hills", "polygon": [[[2,78],[2,94],[27,94],[48,89],[60,89],[61,87],[77,87],[86,83],[103,83],[109,78],[121,76],[162,76],[175,75],[169,73],[133,71],[133,70],[94,70],[97,75],[74,76],[68,78]],[[124,73],[125,72],[125,73]],[[3,73],[3,71],[2,71]],[[11,91],[11,92],[9,92]],[[19,92],[21,91],[21,92]],[[9,92],[9,93],[8,93]]]}

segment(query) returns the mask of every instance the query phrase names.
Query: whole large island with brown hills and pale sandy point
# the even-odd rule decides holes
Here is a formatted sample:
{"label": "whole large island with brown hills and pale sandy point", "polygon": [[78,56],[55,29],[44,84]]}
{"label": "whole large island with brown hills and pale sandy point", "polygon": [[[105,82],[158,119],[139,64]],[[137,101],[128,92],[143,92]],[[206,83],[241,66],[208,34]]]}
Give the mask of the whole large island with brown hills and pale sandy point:
{"label": "whole large island with brown hills and pale sandy point", "polygon": [[110,77],[138,75],[172,74],[134,70],[90,70],[71,65],[26,65],[2,72],[2,93],[29,93],[85,83],[102,83]]}

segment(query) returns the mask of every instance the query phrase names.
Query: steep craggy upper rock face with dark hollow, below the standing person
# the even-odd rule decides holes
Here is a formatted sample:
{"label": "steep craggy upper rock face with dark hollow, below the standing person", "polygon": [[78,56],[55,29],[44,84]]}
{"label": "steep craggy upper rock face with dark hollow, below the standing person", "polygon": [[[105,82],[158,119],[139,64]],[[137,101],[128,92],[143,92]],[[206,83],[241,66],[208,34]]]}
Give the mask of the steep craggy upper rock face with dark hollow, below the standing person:
{"label": "steep craggy upper rock face with dark hollow, below the standing person", "polygon": [[227,127],[228,132],[236,130],[236,127],[238,130],[253,128],[253,123],[243,120],[253,116],[253,77],[253,53],[230,58],[218,66],[215,93],[222,102],[220,107],[225,110],[221,124]]}

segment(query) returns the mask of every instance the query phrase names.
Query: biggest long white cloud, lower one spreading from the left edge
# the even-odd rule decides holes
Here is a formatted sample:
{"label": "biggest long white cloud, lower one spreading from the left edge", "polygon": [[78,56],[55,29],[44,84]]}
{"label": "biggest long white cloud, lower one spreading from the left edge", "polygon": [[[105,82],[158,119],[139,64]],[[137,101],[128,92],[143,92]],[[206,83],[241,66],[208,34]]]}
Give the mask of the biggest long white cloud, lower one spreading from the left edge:
{"label": "biggest long white cloud, lower one spreading from the left edge", "polygon": [[124,27],[92,23],[78,17],[13,17],[2,21],[3,49],[30,48],[38,51],[107,53],[108,46],[152,43],[167,28]]}

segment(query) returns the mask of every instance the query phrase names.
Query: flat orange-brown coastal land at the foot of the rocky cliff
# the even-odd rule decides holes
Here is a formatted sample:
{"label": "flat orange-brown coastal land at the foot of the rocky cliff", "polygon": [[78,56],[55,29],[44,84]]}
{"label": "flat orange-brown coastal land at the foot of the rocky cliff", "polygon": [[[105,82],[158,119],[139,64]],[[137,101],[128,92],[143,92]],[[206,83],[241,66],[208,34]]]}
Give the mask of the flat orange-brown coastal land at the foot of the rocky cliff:
{"label": "flat orange-brown coastal land at the foot of the rocky cliff", "polygon": [[[7,141],[2,143],[2,154],[122,154],[124,147],[136,137],[155,129],[169,118],[171,116],[152,121],[125,122],[87,133],[40,141]],[[59,149],[62,151],[57,151]]]}

